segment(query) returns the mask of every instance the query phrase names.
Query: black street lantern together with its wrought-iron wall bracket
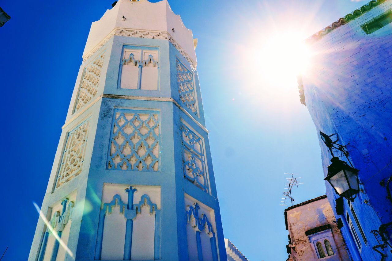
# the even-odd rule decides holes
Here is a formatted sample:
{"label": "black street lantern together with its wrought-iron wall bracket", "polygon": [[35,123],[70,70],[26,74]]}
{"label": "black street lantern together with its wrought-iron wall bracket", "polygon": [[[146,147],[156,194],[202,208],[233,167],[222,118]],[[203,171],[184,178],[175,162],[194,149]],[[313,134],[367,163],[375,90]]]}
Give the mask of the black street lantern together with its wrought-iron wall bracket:
{"label": "black street lantern together with its wrought-iron wall bracket", "polygon": [[[332,141],[330,137],[332,135],[327,135],[320,131],[320,136],[325,145],[329,148],[329,151],[332,155],[331,164],[328,166],[328,174],[325,177],[325,180],[331,184],[332,188],[334,188],[335,192],[350,201],[354,201],[357,193],[359,193],[359,181],[358,181],[358,172],[352,163],[348,159],[348,151],[346,146],[337,144],[338,139],[336,141]],[[345,161],[341,161],[338,157],[336,157],[333,151],[341,151],[341,156],[345,155],[347,161],[350,165]]]}

